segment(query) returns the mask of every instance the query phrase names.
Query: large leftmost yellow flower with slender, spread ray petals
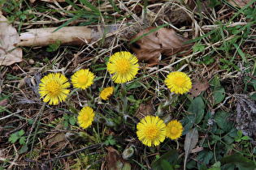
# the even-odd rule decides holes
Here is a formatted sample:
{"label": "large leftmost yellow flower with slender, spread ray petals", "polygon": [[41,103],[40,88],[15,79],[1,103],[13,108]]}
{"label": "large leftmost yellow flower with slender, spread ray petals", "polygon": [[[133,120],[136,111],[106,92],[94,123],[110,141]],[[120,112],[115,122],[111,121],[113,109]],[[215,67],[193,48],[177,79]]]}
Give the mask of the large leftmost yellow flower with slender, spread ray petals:
{"label": "large leftmost yellow flower with slender, spread ray petals", "polygon": [[49,104],[59,104],[65,100],[69,94],[67,87],[70,87],[70,83],[63,74],[48,74],[39,83],[38,92],[40,93],[40,98],[44,98],[44,102],[49,102]]}

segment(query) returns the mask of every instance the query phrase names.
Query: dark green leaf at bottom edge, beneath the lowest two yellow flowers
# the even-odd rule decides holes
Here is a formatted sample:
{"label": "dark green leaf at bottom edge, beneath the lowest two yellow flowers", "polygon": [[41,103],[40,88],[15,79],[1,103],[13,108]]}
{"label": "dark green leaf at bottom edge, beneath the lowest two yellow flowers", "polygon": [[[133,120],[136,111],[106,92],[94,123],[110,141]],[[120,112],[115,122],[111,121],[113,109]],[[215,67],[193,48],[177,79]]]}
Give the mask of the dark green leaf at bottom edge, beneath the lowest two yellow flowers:
{"label": "dark green leaf at bottom edge, beneath the lowest two yellow flowers", "polygon": [[161,166],[162,160],[167,160],[169,164],[173,164],[176,162],[176,159],[178,158],[178,156],[179,156],[179,153],[177,150],[167,151],[167,153],[163,154],[159,159],[154,161],[154,163],[151,166],[151,169],[165,170]]}

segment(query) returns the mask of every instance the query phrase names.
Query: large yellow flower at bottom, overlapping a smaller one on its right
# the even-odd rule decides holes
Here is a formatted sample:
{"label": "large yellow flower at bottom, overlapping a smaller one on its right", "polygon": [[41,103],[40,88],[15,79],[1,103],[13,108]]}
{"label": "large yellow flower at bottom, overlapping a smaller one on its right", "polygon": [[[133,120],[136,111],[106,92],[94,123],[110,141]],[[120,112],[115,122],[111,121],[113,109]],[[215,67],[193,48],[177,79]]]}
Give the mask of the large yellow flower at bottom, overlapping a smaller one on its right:
{"label": "large yellow flower at bottom, overlapping a smaller one on its right", "polygon": [[158,146],[166,137],[166,125],[159,117],[147,116],[138,123],[137,136],[146,146]]}

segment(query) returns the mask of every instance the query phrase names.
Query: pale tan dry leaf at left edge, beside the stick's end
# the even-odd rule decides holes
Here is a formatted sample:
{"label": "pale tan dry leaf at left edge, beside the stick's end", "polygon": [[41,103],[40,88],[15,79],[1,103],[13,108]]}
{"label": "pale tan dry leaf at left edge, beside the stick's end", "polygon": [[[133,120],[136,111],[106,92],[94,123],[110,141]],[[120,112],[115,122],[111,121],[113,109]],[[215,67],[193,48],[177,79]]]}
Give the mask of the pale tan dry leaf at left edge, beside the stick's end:
{"label": "pale tan dry leaf at left edge, beside the stick's end", "polygon": [[[20,41],[19,34],[12,28],[8,19],[0,12],[0,66],[10,66],[22,61],[22,49],[16,48]],[[16,49],[15,49],[16,48]]]}

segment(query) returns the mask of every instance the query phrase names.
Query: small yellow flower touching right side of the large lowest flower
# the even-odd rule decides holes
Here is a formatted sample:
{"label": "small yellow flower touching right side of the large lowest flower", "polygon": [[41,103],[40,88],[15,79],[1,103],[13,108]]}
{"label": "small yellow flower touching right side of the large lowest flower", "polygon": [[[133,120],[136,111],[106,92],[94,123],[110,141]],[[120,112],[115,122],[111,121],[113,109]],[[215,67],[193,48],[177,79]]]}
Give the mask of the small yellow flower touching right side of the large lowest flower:
{"label": "small yellow flower touching right side of the large lowest flower", "polygon": [[167,138],[177,139],[180,138],[183,131],[183,127],[180,121],[173,120],[170,121],[167,125]]}

